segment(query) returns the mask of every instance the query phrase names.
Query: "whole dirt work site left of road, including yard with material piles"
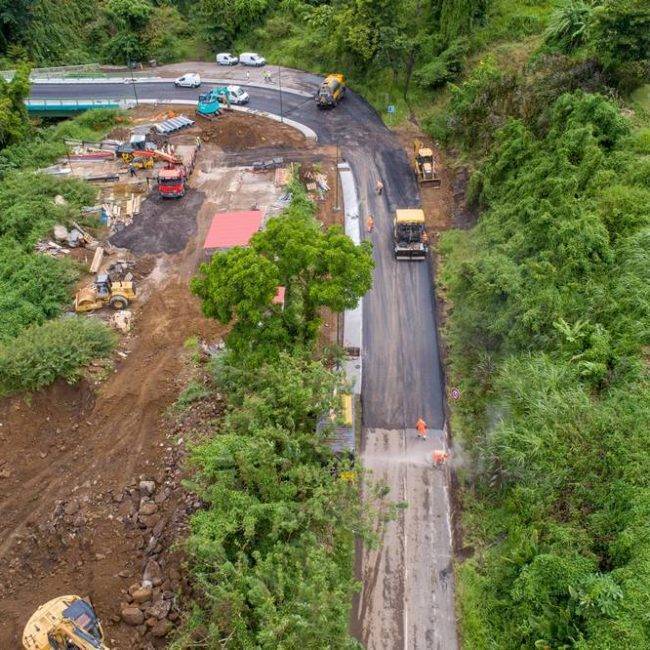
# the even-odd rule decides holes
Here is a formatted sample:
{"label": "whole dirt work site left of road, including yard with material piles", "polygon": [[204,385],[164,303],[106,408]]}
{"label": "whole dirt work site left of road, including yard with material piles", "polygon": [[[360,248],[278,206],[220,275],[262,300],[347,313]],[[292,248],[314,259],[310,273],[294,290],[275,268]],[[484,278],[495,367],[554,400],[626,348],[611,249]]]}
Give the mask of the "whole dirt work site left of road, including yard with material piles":
{"label": "whole dirt work site left of road, including yard with material piles", "polygon": [[[143,107],[108,139],[128,142],[159,113]],[[185,443],[220,411],[218,403],[210,412],[171,408],[192,376],[193,356],[214,354],[225,333],[202,316],[188,289],[206,260],[208,228],[216,214],[256,210],[267,219],[279,212],[291,169],[277,162],[284,155],[301,159],[303,178],[316,179],[306,180],[323,221],[342,219],[331,209],[331,148],[295,129],[229,113],[218,123],[198,118],[164,144],[178,151],[197,143],[185,194],[173,199],[156,186],[164,160],[133,174],[119,155],[95,161],[97,143],[77,143],[59,162],[58,173],[97,176],[101,166],[110,179],[93,181],[96,206],[79,215],[78,228],[55,229],[41,252],[85,265],[80,290],[92,286],[95,273],[105,274],[114,284],[132,282],[135,298],[124,310],[101,304],[82,314],[118,330],[111,359],[92,364],[74,386],[57,382],[0,401],[2,648],[21,647],[37,606],[67,593],[90,597],[109,647],[165,646],[178,620],[178,594],[187,589],[174,542],[201,506],[180,485]],[[275,168],[254,166],[269,157]]]}

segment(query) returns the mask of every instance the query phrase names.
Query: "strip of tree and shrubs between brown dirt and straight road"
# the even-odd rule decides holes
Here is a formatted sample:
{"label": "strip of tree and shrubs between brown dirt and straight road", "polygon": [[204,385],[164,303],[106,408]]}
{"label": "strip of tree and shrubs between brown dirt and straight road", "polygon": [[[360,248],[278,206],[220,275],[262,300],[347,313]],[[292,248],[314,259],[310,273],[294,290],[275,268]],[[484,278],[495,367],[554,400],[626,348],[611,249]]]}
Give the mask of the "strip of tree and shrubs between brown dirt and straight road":
{"label": "strip of tree and shrubs between brown dirt and straight road", "polygon": [[[192,454],[206,508],[188,548],[202,597],[178,647],[357,647],[354,540],[368,538],[372,509],[358,468],[334,457],[317,426],[346,387],[314,338],[320,307],[343,310],[370,288],[372,258],[338,228],[322,231],[304,188],[291,190],[250,248],[215,255],[192,285],[207,315],[235,323],[211,368],[227,412]],[[279,283],[284,310],[272,302]]]}

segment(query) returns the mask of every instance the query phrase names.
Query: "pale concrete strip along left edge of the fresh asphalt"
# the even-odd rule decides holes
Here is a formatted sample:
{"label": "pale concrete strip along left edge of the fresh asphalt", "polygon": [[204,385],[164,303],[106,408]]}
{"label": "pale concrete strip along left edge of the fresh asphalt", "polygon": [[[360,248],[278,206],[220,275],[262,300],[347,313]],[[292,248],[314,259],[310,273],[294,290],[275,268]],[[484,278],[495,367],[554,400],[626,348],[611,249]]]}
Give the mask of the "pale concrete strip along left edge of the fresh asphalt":
{"label": "pale concrete strip along left edge of the fresh asphalt", "polygon": [[[339,163],[339,177],[343,189],[345,211],[345,234],[358,246],[361,243],[361,224],[359,222],[359,199],[352,169],[348,163]],[[359,350],[358,357],[346,357],[343,362],[345,375],[353,385],[355,395],[361,395],[363,379],[363,298],[354,309],[346,309],[343,314],[343,347]]]}

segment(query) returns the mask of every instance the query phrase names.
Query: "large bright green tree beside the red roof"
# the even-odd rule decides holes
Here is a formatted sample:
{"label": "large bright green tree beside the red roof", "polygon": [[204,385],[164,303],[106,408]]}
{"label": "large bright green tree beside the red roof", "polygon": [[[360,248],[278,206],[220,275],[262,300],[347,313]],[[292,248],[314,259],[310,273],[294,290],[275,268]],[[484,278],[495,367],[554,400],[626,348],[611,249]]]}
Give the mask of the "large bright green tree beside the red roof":
{"label": "large bright green tree beside the red roof", "polygon": [[[371,287],[370,245],[356,246],[338,226],[323,230],[304,190],[293,189],[292,205],[252,238],[251,248],[215,255],[192,281],[206,315],[235,319],[232,344],[310,343],[323,307],[354,307]],[[286,289],[284,309],[273,304],[279,286]]]}

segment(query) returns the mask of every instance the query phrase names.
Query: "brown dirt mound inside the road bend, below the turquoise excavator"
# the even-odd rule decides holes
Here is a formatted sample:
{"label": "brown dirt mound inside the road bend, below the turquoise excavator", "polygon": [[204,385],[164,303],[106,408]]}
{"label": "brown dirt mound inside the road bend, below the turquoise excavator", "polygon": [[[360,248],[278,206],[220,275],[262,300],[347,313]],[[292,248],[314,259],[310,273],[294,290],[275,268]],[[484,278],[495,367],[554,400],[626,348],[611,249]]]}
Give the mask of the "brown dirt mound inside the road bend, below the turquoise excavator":
{"label": "brown dirt mound inside the road bend, below the turquoise excavator", "polygon": [[223,113],[209,122],[200,120],[201,138],[224,151],[246,151],[258,147],[293,149],[304,147],[306,138],[296,129],[250,114]]}

